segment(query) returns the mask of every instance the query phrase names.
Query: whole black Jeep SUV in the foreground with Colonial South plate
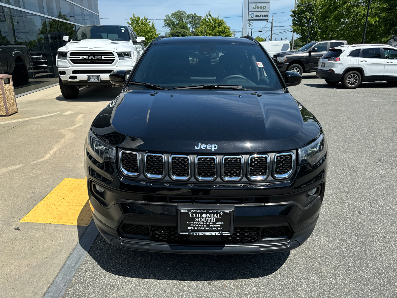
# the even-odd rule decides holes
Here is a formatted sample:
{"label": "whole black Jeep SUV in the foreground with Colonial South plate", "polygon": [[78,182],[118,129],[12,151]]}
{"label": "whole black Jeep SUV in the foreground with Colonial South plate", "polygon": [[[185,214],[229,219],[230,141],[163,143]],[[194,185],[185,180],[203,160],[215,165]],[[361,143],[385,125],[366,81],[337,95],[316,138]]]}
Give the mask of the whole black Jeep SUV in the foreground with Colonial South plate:
{"label": "whole black Jeep SUV in the foreground with Colonial South plate", "polygon": [[121,248],[291,250],[316,225],[327,145],[254,39],[158,37],[96,116],[85,145],[98,230]]}

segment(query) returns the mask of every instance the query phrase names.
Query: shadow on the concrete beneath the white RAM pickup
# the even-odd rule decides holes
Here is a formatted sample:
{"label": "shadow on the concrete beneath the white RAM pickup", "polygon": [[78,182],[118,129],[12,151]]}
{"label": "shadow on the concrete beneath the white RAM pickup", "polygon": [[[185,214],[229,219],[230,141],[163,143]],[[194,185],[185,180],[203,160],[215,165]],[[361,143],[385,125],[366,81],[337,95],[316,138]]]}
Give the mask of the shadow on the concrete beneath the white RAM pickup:
{"label": "shadow on the concrete beneath the white RAM pickup", "polygon": [[90,87],[81,88],[79,97],[76,99],[65,99],[62,95],[56,97],[58,101],[74,101],[74,102],[98,102],[98,101],[112,101],[121,93],[123,88],[120,87]]}

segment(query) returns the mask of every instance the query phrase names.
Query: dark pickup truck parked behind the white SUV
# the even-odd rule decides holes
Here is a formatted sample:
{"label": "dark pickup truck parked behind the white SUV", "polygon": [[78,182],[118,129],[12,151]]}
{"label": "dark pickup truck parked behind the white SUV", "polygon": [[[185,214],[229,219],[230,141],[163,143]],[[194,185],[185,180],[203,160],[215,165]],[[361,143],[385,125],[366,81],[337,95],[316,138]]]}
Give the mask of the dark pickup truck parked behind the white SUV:
{"label": "dark pickup truck parked behind the white SUV", "polygon": [[320,57],[330,48],[342,45],[347,45],[347,41],[312,41],[298,50],[273,55],[273,61],[281,74],[286,71],[299,74],[315,72]]}

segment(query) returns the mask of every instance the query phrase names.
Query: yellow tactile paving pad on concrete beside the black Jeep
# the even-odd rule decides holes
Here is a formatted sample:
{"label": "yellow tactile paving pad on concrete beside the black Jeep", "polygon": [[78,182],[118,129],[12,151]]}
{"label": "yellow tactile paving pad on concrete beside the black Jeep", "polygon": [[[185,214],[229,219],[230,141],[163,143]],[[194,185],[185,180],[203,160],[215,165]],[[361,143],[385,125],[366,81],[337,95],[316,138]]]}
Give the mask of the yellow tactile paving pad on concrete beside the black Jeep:
{"label": "yellow tactile paving pad on concrete beside the black Jeep", "polygon": [[91,219],[87,182],[65,178],[20,222],[87,226]]}

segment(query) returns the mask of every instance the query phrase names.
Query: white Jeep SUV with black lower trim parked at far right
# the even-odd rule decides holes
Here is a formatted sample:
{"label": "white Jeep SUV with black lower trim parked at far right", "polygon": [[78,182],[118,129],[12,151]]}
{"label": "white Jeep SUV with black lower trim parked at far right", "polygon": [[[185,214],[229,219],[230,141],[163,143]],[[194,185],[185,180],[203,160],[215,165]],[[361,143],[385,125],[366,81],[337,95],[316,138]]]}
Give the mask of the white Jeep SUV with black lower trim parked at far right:
{"label": "white Jeep SUV with black lower trim parked at far right", "polygon": [[330,85],[341,82],[350,89],[362,81],[397,85],[397,49],[376,44],[331,48],[319,60],[316,75]]}

